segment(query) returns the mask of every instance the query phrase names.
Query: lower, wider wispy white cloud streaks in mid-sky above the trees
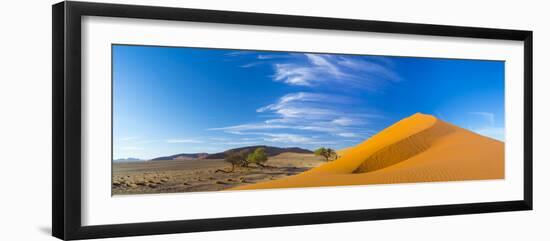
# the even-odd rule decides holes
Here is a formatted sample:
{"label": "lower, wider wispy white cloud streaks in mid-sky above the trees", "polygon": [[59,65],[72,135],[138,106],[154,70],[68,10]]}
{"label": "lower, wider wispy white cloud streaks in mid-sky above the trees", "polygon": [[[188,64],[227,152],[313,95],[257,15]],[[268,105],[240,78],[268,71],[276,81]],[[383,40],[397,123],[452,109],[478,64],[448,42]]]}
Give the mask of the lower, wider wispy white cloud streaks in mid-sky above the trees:
{"label": "lower, wider wispy white cloud streaks in mid-sky above the trees", "polygon": [[[213,131],[224,131],[236,135],[268,135],[273,140],[287,140],[297,142],[306,141],[304,138],[281,135],[279,132],[292,130],[297,133],[324,133],[332,137],[357,137],[350,133],[369,132],[366,124],[369,119],[383,118],[383,116],[358,111],[346,106],[354,100],[345,96],[334,96],[319,93],[297,92],[279,98],[275,103],[257,109],[258,113],[267,113],[271,119],[262,122],[245,123],[240,125],[211,128]],[[343,134],[341,134],[343,133]],[[310,142],[312,142],[310,140]]]}

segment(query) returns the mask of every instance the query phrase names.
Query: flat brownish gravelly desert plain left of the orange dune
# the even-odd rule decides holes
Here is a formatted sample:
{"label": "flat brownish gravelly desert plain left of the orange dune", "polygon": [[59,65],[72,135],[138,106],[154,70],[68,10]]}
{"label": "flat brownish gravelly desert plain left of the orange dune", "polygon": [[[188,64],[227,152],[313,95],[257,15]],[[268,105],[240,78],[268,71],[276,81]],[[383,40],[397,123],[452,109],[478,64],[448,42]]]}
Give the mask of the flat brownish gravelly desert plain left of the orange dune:
{"label": "flat brownish gravelly desert plain left of the orange dune", "polygon": [[113,164],[113,195],[219,191],[293,176],[325,164],[313,154],[282,153],[270,157],[268,168],[252,166],[233,173],[221,159],[169,160]]}

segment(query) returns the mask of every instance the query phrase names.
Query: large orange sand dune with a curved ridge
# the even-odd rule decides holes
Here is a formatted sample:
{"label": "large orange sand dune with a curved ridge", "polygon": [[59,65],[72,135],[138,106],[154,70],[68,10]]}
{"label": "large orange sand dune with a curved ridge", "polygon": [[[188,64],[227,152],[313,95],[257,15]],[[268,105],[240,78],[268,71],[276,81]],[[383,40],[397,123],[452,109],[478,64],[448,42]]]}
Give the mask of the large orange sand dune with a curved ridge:
{"label": "large orange sand dune with a curved ridge", "polygon": [[234,189],[504,178],[503,142],[420,113],[339,154],[296,176]]}

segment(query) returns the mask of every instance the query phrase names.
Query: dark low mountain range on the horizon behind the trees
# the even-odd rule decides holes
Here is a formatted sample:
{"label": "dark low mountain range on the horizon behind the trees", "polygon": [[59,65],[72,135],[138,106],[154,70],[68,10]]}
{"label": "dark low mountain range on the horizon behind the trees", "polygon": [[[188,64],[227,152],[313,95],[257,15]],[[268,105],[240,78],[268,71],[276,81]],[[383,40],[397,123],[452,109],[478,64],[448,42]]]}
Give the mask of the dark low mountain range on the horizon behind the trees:
{"label": "dark low mountain range on the horizon behind the trees", "polygon": [[302,149],[299,147],[274,147],[274,146],[246,146],[246,147],[239,147],[234,149],[229,149],[223,152],[218,153],[181,153],[181,154],[175,154],[171,156],[163,156],[163,157],[157,157],[151,159],[151,161],[160,161],[160,160],[195,160],[195,159],[223,159],[229,152],[239,152],[242,150],[249,150],[250,152],[256,150],[256,148],[265,148],[265,153],[267,156],[276,156],[284,152],[292,152],[292,153],[303,153],[303,154],[311,154],[313,153],[310,150]]}

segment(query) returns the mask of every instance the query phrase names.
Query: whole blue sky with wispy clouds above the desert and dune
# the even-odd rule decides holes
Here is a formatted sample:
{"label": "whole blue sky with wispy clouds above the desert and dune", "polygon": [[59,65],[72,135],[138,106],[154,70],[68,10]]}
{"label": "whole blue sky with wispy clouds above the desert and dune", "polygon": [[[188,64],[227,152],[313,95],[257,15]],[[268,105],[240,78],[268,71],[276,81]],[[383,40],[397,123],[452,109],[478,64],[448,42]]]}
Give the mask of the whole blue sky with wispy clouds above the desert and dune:
{"label": "whole blue sky with wispy clouds above the desert and dune", "polygon": [[113,157],[340,149],[416,112],[504,140],[504,62],[113,46]]}

